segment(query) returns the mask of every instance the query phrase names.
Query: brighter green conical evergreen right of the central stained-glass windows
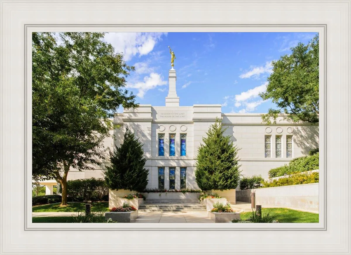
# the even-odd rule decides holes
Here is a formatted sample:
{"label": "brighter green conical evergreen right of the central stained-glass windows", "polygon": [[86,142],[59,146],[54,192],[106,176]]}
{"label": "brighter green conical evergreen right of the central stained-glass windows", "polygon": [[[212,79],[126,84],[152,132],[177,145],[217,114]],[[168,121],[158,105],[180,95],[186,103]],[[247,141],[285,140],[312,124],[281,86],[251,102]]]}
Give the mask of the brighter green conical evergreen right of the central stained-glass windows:
{"label": "brighter green conical evergreen right of the central stained-glass windows", "polygon": [[222,124],[210,126],[207,137],[198,149],[195,180],[202,190],[235,189],[240,178],[238,148],[229,136],[224,136]]}

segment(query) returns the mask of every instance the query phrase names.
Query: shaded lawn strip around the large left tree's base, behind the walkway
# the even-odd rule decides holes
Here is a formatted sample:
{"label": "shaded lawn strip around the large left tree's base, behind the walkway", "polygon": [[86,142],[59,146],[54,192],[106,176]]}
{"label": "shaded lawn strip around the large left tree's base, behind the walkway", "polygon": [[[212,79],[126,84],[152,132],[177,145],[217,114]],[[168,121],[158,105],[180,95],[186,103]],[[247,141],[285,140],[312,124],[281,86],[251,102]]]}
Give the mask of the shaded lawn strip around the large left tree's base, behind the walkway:
{"label": "shaded lawn strip around the large left tree's base, behind the walkway", "polygon": [[[77,212],[85,211],[85,203],[69,202],[67,206],[60,207],[60,203],[35,205],[32,207],[32,212]],[[108,202],[93,202],[91,211],[108,211]]]}

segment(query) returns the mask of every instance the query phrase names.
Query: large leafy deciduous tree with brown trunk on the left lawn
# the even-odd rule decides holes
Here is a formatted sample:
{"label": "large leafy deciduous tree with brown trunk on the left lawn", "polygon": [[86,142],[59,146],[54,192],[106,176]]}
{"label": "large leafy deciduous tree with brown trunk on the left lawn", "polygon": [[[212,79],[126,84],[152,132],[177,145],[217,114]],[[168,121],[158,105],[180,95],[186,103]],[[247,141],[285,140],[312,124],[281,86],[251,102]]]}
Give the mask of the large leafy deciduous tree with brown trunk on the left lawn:
{"label": "large leafy deciduous tree with brown trunk on the left lawn", "polygon": [[135,96],[123,89],[134,67],[103,37],[32,34],[33,178],[60,183],[62,205],[67,204],[69,170],[99,165],[113,112],[121,105],[137,106]]}

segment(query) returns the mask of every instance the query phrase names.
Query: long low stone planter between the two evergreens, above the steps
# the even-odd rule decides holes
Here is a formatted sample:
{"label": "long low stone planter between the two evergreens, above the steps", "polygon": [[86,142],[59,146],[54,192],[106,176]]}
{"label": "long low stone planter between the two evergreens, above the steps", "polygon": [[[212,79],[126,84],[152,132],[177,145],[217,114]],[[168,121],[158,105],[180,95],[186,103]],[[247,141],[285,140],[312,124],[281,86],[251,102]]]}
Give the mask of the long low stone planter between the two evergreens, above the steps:
{"label": "long low stone planter between the two evergreens, above the steps", "polygon": [[200,193],[194,192],[150,192],[141,193],[146,197],[145,203],[199,203]]}

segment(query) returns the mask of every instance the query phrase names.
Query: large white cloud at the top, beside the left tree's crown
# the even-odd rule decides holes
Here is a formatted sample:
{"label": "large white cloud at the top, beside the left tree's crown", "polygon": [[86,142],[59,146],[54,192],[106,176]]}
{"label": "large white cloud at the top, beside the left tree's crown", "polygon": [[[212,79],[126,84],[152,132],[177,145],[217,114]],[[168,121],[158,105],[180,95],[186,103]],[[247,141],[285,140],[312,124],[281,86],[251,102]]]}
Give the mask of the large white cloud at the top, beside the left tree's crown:
{"label": "large white cloud at the top, beside the left tree's crown", "polygon": [[135,55],[147,55],[167,33],[145,32],[110,32],[105,34],[107,43],[112,44],[116,52],[123,52],[126,61]]}

